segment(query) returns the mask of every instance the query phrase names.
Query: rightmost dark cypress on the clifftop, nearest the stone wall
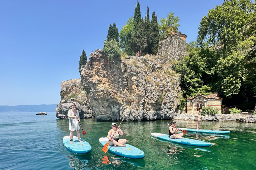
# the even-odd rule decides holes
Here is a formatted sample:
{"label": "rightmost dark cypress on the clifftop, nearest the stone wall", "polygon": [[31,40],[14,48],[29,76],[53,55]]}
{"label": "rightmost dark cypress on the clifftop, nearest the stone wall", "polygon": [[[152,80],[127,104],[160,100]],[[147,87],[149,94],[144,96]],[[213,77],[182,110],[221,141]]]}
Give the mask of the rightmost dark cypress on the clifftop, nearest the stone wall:
{"label": "rightmost dark cypress on the clifftop, nearest the stone wall", "polygon": [[159,27],[157,22],[157,16],[155,15],[155,11],[152,14],[151,22],[150,22],[150,54],[156,54],[158,51],[159,45]]}

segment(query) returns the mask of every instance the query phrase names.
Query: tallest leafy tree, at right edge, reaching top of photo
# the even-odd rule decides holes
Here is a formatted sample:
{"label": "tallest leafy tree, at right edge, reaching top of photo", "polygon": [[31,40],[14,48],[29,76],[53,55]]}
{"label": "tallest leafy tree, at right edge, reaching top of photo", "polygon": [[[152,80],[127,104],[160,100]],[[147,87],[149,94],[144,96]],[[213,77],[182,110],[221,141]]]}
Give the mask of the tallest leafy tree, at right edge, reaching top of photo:
{"label": "tallest leafy tree, at right edge, reaching top of photo", "polygon": [[227,98],[256,96],[255,18],[255,2],[226,0],[200,22],[198,42],[207,42],[219,56],[211,70],[215,83],[210,83]]}

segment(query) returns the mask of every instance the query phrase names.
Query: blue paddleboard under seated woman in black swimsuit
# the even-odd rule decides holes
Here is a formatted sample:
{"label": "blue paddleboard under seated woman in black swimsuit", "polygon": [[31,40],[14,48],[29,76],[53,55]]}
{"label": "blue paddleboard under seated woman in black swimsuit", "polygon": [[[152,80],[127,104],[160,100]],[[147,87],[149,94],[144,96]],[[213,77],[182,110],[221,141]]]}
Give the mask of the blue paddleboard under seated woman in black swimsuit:
{"label": "blue paddleboard under seated woman in black swimsuit", "polygon": [[168,142],[181,143],[185,145],[192,145],[192,146],[211,146],[212,145],[210,142],[189,139],[185,137],[182,139],[171,139],[168,134],[163,134],[163,133],[151,133],[151,136],[157,139],[166,140]]}

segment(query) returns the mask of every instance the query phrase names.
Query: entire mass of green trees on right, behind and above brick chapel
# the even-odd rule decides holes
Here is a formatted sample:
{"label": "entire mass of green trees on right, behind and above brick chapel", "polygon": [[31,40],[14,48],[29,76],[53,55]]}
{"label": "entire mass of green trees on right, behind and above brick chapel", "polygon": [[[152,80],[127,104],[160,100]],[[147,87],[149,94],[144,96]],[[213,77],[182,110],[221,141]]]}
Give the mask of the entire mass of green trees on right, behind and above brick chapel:
{"label": "entire mass of green trees on right, behind and above brick chapel", "polygon": [[226,99],[256,96],[255,10],[251,0],[225,0],[202,17],[197,42],[175,66],[187,97],[200,91]]}

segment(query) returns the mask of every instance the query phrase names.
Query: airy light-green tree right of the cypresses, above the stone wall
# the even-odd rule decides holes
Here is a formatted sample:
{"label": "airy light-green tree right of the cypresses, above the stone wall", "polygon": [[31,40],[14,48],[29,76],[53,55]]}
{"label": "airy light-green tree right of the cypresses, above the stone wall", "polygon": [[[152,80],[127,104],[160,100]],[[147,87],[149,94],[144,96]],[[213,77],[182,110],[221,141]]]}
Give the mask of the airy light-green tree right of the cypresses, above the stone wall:
{"label": "airy light-green tree right of the cypresses, above the stone wall", "polygon": [[174,13],[169,13],[167,18],[160,18],[159,21],[159,30],[160,30],[160,41],[167,39],[168,37],[172,36],[173,33],[177,33],[179,17],[174,17]]}

